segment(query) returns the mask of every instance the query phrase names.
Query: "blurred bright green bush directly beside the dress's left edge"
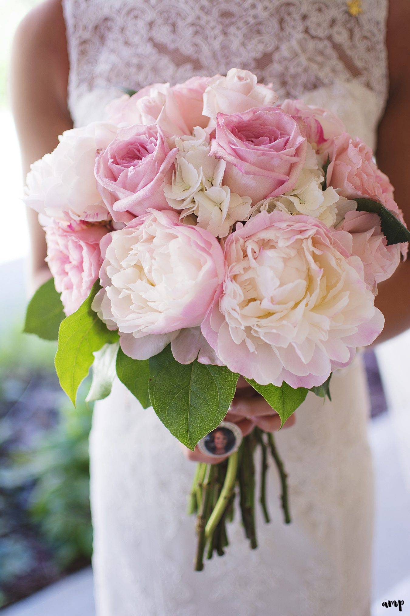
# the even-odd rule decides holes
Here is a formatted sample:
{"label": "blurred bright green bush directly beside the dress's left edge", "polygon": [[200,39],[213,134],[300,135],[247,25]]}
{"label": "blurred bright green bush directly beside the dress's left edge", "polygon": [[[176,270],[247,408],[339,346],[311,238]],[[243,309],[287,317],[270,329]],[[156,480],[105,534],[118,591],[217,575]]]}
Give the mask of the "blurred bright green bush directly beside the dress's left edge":
{"label": "blurred bright green bush directly beside the dress's left edge", "polygon": [[79,557],[91,557],[92,528],[89,505],[90,406],[66,403],[58,426],[30,452],[26,464],[35,485],[30,517],[52,548],[60,567]]}

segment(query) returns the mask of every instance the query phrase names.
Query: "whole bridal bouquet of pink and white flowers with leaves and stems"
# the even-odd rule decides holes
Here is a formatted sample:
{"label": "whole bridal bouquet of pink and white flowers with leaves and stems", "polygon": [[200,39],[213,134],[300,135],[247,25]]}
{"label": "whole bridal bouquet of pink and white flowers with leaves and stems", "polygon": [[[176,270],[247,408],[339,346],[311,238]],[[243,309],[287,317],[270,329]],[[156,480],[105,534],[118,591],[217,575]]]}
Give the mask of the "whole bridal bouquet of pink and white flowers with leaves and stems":
{"label": "whole bridal bouquet of pink and white flowers with leaves and stems", "polygon": [[[93,365],[89,399],[101,399],[117,375],[191,450],[240,375],[282,424],[307,395],[329,395],[332,371],[382,331],[377,284],[410,239],[366,144],[236,68],[128,92],[106,121],[64,132],[33,164],[26,203],[53,280],[25,330],[58,338],[61,387],[75,403]],[[274,439],[255,428],[223,463],[198,466],[196,569],[205,550],[223,554],[237,486],[256,546],[256,448],[266,520],[272,453],[290,521]]]}

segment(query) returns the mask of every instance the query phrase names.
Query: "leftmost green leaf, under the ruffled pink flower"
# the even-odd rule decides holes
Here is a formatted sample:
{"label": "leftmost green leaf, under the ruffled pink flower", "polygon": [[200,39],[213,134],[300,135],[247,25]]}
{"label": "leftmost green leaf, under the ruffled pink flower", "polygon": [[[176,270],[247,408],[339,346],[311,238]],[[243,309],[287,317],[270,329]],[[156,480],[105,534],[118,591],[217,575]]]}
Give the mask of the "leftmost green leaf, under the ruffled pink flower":
{"label": "leftmost green leaf, under the ruffled pink flower", "polygon": [[34,293],[27,306],[24,330],[27,334],[37,334],[44,340],[57,340],[58,328],[65,318],[60,293],[57,293],[53,278],[47,280]]}

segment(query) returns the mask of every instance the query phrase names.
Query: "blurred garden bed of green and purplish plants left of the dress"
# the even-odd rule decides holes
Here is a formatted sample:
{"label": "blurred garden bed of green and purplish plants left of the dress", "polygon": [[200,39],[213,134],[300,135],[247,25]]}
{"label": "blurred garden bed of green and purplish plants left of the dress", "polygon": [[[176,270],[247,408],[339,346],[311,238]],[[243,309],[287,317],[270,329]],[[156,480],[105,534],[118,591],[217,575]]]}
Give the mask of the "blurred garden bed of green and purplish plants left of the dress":
{"label": "blurred garden bed of green and purplish plants left of the dress", "polygon": [[90,561],[92,407],[61,392],[55,343],[9,328],[0,357],[0,607]]}

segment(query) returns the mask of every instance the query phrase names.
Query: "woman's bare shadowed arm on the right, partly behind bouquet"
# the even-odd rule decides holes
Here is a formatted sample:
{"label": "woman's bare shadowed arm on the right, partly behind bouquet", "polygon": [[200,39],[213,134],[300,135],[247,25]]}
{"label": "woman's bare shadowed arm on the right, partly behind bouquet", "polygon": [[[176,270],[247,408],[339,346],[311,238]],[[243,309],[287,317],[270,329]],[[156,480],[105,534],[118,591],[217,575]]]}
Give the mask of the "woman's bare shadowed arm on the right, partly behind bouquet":
{"label": "woman's bare shadowed arm on the right, partly behind bouquet", "polygon": [[[410,3],[392,0],[387,23],[390,91],[379,127],[377,164],[395,187],[395,200],[410,227]],[[410,258],[379,286],[376,306],[385,316],[381,342],[410,327]]]}

